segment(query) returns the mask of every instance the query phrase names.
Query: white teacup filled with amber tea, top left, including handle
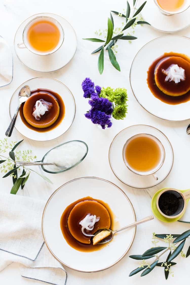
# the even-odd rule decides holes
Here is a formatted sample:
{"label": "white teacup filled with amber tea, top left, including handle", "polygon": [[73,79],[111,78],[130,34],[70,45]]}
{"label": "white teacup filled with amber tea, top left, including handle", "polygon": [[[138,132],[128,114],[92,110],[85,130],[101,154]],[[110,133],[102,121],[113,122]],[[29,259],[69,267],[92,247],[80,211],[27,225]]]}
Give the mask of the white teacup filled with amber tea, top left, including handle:
{"label": "white teacup filled with amber tea, top left, including handle", "polygon": [[48,16],[32,19],[24,28],[23,43],[19,48],[28,48],[38,55],[52,54],[62,45],[64,31],[60,23]]}

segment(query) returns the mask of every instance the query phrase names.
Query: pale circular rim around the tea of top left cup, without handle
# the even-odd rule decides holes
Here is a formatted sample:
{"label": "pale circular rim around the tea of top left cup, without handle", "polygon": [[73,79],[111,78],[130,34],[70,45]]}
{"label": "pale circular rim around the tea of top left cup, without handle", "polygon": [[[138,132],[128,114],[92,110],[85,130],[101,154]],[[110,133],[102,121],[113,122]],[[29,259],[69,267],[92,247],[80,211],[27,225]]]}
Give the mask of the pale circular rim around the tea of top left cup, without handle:
{"label": "pale circular rim around the tea of top left cup, without handle", "polygon": [[[46,53],[46,54],[40,54],[40,53],[38,53],[38,52],[34,52],[34,50],[32,50],[32,49],[30,49],[30,48],[28,47],[28,45],[26,44],[26,41],[24,40],[24,32],[26,31],[26,28],[28,27],[28,25],[29,25],[32,21],[34,21],[34,20],[36,20],[36,19],[40,19],[40,18],[53,19],[53,20],[59,25],[59,27],[60,27],[60,29],[61,29],[61,32],[62,32],[62,35],[63,35],[62,41],[60,42],[58,48],[56,48],[53,52],[50,51],[50,52],[48,52],[48,53]],[[22,34],[23,43],[24,43],[24,45],[26,46],[26,48],[27,48],[30,52],[32,52],[33,54],[36,54],[36,55],[39,55],[39,56],[49,55],[49,54],[53,54],[54,52],[56,52],[56,51],[62,46],[62,44],[63,44],[63,42],[64,42],[64,36],[65,36],[64,29],[63,29],[62,25],[60,24],[60,22],[59,22],[57,19],[55,19],[55,18],[53,18],[53,17],[50,17],[50,16],[42,16],[42,15],[41,15],[41,16],[36,16],[36,17],[34,17],[33,19],[31,19],[31,20],[25,25],[25,27],[24,27],[24,29],[23,29],[23,34]]]}

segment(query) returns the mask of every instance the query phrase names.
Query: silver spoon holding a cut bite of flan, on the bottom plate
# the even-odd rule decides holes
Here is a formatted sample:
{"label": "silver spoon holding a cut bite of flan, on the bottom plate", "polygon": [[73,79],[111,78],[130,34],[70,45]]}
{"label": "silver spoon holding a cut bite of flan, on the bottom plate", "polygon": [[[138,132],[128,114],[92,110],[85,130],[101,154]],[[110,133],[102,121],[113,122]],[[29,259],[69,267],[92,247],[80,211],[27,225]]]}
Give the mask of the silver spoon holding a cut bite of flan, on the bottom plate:
{"label": "silver spoon holding a cut bite of flan, on the bottom plate", "polygon": [[118,232],[123,231],[125,229],[129,229],[129,228],[134,227],[136,225],[151,221],[153,219],[154,219],[153,216],[149,216],[149,217],[146,217],[140,221],[136,221],[135,223],[132,223],[130,225],[127,225],[127,226],[125,226],[121,229],[115,230],[115,231],[112,231],[110,229],[101,229],[101,230],[97,231],[94,235],[96,236],[98,233],[100,233],[101,231],[105,231],[105,230],[110,231],[110,235],[108,237],[105,237],[105,239],[102,239],[101,241],[99,241],[99,243],[97,243],[97,244],[108,243],[109,241],[111,241],[113,239],[113,236],[115,235],[115,233],[118,233]]}

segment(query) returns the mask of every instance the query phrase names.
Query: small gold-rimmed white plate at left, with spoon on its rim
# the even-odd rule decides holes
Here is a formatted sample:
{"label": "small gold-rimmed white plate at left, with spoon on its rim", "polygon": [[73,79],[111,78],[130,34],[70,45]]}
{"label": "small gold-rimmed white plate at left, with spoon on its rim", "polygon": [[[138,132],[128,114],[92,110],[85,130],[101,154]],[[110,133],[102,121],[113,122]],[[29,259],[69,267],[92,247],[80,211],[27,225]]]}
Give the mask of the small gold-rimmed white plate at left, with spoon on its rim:
{"label": "small gold-rimmed white plate at left, with spoon on its rim", "polygon": [[18,114],[15,123],[15,128],[17,131],[19,131],[19,133],[21,133],[24,137],[27,137],[28,139],[34,141],[50,141],[64,134],[73,123],[76,109],[75,99],[68,87],[59,80],[50,77],[35,77],[25,81],[17,88],[17,90],[15,90],[13,96],[11,97],[9,104],[9,114],[11,116],[11,119],[19,105],[19,91],[24,85],[28,85],[30,87],[30,90],[44,88],[58,93],[62,97],[65,104],[65,116],[62,122],[55,129],[40,133],[29,129],[26,125],[24,125],[20,114]]}

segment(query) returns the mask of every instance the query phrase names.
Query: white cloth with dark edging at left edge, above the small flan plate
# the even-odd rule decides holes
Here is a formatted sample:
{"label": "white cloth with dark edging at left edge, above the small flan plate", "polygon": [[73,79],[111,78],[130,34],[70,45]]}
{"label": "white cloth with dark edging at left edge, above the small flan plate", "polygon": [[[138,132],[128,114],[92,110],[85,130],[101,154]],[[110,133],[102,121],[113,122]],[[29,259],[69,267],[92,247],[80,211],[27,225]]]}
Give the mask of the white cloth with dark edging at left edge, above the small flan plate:
{"label": "white cloth with dark edging at left edge, above the small flan plate", "polygon": [[0,87],[6,86],[13,80],[13,56],[9,45],[0,36]]}

